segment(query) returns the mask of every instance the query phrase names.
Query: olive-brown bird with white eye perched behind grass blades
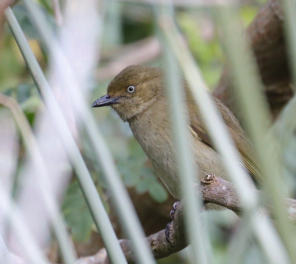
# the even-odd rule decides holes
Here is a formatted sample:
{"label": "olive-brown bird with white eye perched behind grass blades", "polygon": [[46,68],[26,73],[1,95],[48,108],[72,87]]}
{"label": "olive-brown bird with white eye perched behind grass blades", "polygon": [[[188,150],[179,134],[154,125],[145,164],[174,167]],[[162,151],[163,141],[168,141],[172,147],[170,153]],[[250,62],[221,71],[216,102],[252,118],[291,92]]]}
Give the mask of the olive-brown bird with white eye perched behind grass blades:
{"label": "olive-brown bird with white eye perched behind grass blades", "polygon": [[[169,192],[181,199],[176,151],[173,144],[166,84],[162,70],[155,67],[131,65],[123,69],[109,83],[107,94],[97,99],[92,107],[111,106],[119,117],[128,122],[134,137],[152,162],[157,174]],[[183,82],[190,121],[190,146],[192,147],[197,181],[209,173],[227,179],[222,159],[211,146],[206,126],[194,103],[186,81]],[[223,117],[237,146],[237,157],[250,174],[260,180],[255,166],[255,155],[244,131],[232,112],[217,98],[213,101]]]}

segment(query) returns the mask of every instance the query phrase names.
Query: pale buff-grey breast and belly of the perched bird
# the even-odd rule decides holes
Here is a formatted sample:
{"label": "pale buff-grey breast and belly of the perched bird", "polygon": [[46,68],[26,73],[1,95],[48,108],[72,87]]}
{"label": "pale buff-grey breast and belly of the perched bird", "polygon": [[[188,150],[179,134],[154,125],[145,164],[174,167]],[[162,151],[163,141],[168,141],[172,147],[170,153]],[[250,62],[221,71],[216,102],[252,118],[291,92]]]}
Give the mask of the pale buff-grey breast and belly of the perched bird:
{"label": "pale buff-grey breast and belly of the perched bird", "polygon": [[[169,121],[161,115],[154,114],[131,121],[130,128],[166,188],[174,197],[182,199],[177,155]],[[210,146],[193,136],[190,136],[189,146],[196,182],[211,173],[226,178],[221,158]]]}

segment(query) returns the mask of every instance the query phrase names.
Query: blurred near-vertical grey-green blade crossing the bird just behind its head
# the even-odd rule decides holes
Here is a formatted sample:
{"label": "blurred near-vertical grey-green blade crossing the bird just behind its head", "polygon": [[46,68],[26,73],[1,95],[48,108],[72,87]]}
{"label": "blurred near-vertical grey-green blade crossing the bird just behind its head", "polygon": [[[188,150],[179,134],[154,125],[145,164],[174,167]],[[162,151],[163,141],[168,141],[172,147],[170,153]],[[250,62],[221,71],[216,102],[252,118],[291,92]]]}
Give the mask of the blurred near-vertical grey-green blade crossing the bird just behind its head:
{"label": "blurred near-vertical grey-green blade crossing the bird just behind its head", "polygon": [[[167,15],[169,12],[173,13],[171,9],[164,6],[155,6],[154,8],[157,21],[161,21],[164,15],[169,16]],[[189,125],[183,114],[186,113],[186,105],[184,103],[183,89],[181,88],[180,73],[168,39],[165,38],[163,32],[160,33],[162,33],[160,34],[160,40],[166,60],[167,97],[170,106],[174,145],[176,147],[176,153],[178,153],[178,174],[180,177],[180,190],[184,197],[183,201],[185,202],[187,234],[191,239],[194,261],[200,264],[212,263],[212,249],[205,248],[205,245],[210,245],[208,242],[209,237],[200,228],[199,214],[202,210],[202,202],[192,184],[196,182],[196,179],[191,159],[191,147],[189,145],[190,134],[187,129]],[[197,199],[193,199],[192,197],[196,197]]]}

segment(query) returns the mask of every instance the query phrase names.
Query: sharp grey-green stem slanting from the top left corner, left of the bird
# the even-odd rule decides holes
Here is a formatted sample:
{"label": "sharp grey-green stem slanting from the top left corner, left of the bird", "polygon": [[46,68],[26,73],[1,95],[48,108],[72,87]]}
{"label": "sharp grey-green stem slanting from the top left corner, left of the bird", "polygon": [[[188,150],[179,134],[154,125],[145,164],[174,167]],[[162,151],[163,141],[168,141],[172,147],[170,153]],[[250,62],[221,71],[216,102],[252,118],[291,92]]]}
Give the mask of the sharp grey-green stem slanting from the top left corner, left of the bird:
{"label": "sharp grey-green stem slanting from the top left corner, left of the bird", "polygon": [[32,50],[30,49],[27,39],[24,36],[23,31],[21,30],[12,10],[10,8],[6,9],[5,14],[9,23],[9,27],[12,30],[12,34],[16,39],[20,51],[22,52],[22,55],[26,61],[27,67],[33,76],[33,80],[37,86],[37,89],[41,94],[48,112],[52,117],[52,121],[54,122],[59,136],[61,137],[66,154],[77,175],[79,184],[90,208],[98,231],[102,236],[102,240],[108,252],[110,261],[114,264],[127,263],[123,251],[119,245],[119,241],[117,240],[116,234],[112,228],[112,224],[109,220],[107,212],[103,206],[102,200],[99,197],[95,184],[91,179],[91,175],[87,170],[80,151],[68,126],[66,125],[62,111],[55,100],[48,82],[36,58],[34,57]]}

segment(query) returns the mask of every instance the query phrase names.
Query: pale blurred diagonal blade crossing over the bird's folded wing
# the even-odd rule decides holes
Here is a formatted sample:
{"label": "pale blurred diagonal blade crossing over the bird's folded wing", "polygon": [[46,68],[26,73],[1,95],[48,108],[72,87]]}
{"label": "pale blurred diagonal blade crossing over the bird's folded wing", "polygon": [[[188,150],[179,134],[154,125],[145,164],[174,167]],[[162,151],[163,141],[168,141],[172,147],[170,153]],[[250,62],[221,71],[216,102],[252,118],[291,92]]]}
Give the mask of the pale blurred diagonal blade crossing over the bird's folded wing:
{"label": "pale blurred diagonal blade crossing over the bird's folded wing", "polygon": [[[166,38],[168,38],[167,43],[172,47],[177,56],[179,65],[192,89],[202,117],[208,126],[209,134],[217,151],[223,157],[231,177],[230,179],[237,187],[237,194],[243,209],[242,216],[248,219],[246,223],[249,224],[249,228],[251,228],[257,237],[271,263],[289,263],[286,251],[271,222],[257,211],[258,197],[255,197],[251,190],[253,187],[249,183],[248,175],[236,162],[232,151],[234,147],[232,140],[225,130],[221,116],[215,109],[209,95],[205,92],[204,81],[189,49],[184,44],[176,27],[174,27],[173,21],[169,20],[168,17],[165,17],[163,21],[162,30]],[[259,224],[260,228],[258,228]]]}

